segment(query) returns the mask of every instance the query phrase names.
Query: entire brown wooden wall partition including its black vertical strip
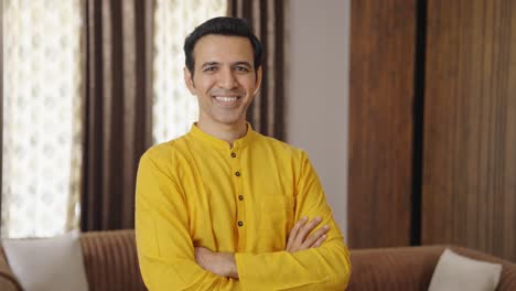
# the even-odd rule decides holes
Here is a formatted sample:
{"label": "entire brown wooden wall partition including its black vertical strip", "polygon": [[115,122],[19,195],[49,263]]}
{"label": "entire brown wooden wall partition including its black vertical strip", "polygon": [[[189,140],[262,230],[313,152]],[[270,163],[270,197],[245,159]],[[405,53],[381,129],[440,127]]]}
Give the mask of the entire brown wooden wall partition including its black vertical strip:
{"label": "entire brown wooden wall partition including its black vertical strip", "polygon": [[516,261],[516,0],[352,0],[348,241]]}

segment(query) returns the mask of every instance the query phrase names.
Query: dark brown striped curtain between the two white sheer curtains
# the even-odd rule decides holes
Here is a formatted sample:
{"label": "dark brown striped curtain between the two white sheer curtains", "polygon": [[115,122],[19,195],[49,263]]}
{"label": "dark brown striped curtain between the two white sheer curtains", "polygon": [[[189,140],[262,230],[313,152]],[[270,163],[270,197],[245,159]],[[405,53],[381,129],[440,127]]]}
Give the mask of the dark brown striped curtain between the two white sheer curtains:
{"label": "dark brown striped curtain between the two white sheer curtains", "polygon": [[151,144],[153,1],[86,0],[83,230],[133,228],[135,176]]}

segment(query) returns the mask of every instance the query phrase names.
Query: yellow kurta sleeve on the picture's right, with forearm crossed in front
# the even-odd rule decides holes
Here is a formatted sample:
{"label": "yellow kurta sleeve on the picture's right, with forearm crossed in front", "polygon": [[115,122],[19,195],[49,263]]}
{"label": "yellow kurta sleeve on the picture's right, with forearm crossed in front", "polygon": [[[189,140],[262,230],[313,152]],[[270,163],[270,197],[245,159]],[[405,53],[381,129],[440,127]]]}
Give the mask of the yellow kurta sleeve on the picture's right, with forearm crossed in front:
{"label": "yellow kurta sleeve on the picture's right, with forearm crossed in front", "polygon": [[319,248],[290,254],[236,254],[244,290],[344,290],[351,274],[348,250],[326,203],[319,177],[302,153],[295,188],[295,218],[321,216],[330,226],[326,241]]}

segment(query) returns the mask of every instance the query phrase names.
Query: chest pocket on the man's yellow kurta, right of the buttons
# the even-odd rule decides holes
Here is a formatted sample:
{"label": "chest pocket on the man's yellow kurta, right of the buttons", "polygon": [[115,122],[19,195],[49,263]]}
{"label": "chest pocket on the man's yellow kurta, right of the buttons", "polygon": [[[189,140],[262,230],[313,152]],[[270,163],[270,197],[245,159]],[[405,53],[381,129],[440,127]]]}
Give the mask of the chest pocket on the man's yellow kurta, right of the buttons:
{"label": "chest pocket on the man's yellow kurta, right of the buttons", "polygon": [[284,195],[266,195],[260,206],[260,234],[265,239],[265,251],[280,251],[293,227],[294,200]]}

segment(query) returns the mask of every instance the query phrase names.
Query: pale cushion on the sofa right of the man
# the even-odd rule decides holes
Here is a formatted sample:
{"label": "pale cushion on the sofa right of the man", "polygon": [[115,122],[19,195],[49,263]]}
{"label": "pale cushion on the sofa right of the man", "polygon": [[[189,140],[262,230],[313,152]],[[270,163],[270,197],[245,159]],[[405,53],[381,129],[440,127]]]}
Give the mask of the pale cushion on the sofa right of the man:
{"label": "pale cushion on the sofa right of the man", "polygon": [[493,291],[499,281],[502,265],[479,261],[445,249],[433,271],[429,291]]}

